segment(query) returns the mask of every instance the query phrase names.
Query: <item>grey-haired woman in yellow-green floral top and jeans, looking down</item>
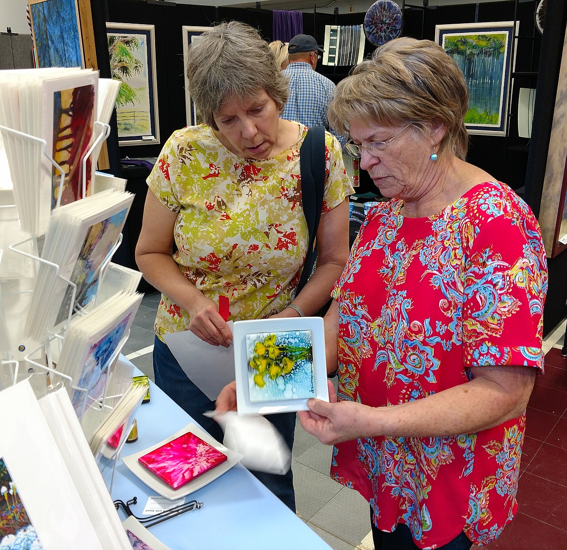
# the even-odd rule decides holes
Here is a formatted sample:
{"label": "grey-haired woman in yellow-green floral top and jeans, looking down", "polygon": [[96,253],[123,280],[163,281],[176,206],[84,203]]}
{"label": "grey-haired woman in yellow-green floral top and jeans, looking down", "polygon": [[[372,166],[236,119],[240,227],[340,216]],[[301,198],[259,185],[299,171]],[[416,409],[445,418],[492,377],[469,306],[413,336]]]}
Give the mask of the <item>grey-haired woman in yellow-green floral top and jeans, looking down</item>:
{"label": "grey-haired woman in yellow-green floral top and jeans, looking down", "polygon": [[[204,124],[175,132],[150,174],[136,258],[162,292],[155,321],[156,384],[215,438],[202,416],[214,408],[185,375],[163,335],[191,330],[228,347],[229,320],[317,312],[348,258],[348,195],[353,192],[336,138],[325,135],[325,183],[317,268],[297,293],[308,243],[299,148],[307,133],[280,119],[287,81],[268,43],[242,23],[223,23],[191,45],[189,91]],[[176,251],[172,255],[172,245]],[[291,447],[295,414],[270,415]],[[257,473],[295,509],[291,471]]]}

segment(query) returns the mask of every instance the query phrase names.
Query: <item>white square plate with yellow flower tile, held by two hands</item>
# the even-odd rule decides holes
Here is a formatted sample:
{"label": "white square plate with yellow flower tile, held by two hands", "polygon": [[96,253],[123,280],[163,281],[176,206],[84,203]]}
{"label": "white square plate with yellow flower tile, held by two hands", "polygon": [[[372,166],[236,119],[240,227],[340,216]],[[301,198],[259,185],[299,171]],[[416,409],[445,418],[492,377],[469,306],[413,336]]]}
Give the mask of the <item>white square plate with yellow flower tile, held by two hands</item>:
{"label": "white square plate with yellow flower tile, held by two hands", "polygon": [[321,317],[235,321],[236,406],[239,414],[307,410],[329,400]]}

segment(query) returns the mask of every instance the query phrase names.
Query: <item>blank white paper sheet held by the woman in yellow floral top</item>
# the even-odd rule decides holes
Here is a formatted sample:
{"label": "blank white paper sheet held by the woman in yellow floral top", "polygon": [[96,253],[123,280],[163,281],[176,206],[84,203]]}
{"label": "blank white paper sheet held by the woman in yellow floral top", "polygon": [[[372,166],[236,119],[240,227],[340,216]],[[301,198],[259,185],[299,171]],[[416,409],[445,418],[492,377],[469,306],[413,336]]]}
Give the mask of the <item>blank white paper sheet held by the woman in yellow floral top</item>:
{"label": "blank white paper sheet held by the woman in yellow floral top", "polygon": [[[227,323],[232,330],[232,321]],[[234,347],[211,346],[191,330],[164,334],[175,359],[187,377],[214,401],[227,384],[234,380]]]}

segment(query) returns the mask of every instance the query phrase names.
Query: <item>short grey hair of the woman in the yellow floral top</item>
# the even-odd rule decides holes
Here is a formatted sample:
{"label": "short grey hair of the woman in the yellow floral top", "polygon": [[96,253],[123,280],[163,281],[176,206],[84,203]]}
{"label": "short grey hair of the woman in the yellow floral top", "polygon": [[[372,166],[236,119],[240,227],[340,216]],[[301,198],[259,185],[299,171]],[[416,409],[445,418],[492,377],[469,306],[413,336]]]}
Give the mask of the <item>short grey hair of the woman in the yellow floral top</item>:
{"label": "short grey hair of the woman in the yellow floral top", "polygon": [[231,98],[255,98],[264,90],[280,110],[287,100],[287,79],[259,32],[244,23],[221,23],[190,46],[185,67],[189,94],[206,124]]}

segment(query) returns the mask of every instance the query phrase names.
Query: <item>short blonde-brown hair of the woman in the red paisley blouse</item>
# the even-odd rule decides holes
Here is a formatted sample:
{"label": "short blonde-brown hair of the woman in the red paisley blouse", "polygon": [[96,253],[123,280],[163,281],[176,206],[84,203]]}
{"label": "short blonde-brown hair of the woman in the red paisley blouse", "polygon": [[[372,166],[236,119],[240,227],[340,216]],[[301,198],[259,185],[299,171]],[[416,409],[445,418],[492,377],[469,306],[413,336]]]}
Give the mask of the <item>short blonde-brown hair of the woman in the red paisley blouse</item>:
{"label": "short blonde-brown hair of the woman in the red paisley blouse", "polygon": [[431,40],[402,37],[376,48],[338,83],[327,119],[342,133],[354,119],[380,126],[409,123],[421,131],[441,121],[446,131],[438,153],[464,159],[467,109],[467,84],[455,61]]}

